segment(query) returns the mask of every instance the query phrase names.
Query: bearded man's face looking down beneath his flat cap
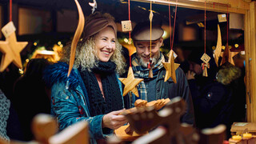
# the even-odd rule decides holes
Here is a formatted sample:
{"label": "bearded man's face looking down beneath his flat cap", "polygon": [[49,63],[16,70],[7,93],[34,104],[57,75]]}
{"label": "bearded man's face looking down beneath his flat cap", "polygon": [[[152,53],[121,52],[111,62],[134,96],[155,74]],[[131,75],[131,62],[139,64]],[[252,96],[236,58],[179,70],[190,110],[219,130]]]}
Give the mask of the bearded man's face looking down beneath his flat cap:
{"label": "bearded man's face looking down beneath his flat cap", "polygon": [[[160,38],[151,42],[151,57],[153,64],[158,62],[160,57],[160,46],[162,46],[163,39]],[[137,51],[138,62],[141,66],[147,67],[150,62],[150,42],[134,42]]]}

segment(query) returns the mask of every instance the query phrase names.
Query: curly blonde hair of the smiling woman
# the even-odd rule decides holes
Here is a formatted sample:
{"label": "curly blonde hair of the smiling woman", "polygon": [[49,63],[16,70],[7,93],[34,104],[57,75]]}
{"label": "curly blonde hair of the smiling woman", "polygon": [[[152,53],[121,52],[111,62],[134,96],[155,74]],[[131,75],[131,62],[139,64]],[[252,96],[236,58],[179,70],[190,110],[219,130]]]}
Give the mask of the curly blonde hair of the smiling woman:
{"label": "curly blonde hair of the smiling woman", "polygon": [[[81,66],[82,70],[91,71],[92,68],[98,66],[99,58],[95,50],[95,35],[86,38],[86,41],[78,42],[78,46],[75,53],[74,67],[78,68]],[[110,61],[114,62],[116,67],[116,72],[118,74],[123,74],[125,72],[124,66],[126,66],[125,58],[122,56],[122,46],[116,40],[116,49],[114,54],[110,57]],[[61,60],[62,62],[70,62],[70,49],[71,44],[65,46],[62,50]]]}

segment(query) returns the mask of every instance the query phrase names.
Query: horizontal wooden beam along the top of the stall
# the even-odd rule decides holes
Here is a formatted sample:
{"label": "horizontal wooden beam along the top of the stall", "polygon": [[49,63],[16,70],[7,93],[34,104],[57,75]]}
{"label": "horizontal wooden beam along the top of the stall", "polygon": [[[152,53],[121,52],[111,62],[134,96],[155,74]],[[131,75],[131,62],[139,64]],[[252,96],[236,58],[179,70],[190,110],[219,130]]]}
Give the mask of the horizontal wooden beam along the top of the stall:
{"label": "horizontal wooden beam along the top of the stall", "polygon": [[[136,2],[150,2],[150,0],[132,0]],[[175,0],[151,0],[155,4],[176,5]],[[218,11],[226,13],[226,7],[229,6],[229,12],[237,14],[246,14],[246,10],[250,10],[250,3],[242,0],[207,0],[206,10]],[[204,0],[178,0],[178,7],[185,7],[196,10],[205,9]]]}

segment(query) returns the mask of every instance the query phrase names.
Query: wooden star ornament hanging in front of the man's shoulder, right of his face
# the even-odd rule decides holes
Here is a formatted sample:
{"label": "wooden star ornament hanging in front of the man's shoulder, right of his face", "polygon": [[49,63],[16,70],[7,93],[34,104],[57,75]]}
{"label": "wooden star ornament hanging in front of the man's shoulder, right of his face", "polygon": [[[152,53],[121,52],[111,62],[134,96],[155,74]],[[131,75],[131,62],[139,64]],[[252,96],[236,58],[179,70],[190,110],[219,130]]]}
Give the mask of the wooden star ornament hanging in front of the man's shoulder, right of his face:
{"label": "wooden star ornament hanging in front of the man's shoulder, right of his face", "polygon": [[172,78],[174,83],[177,83],[175,70],[178,69],[179,64],[174,63],[174,51],[170,50],[169,54],[168,62],[162,62],[163,66],[166,68],[166,76],[164,82],[166,82],[169,78]]}

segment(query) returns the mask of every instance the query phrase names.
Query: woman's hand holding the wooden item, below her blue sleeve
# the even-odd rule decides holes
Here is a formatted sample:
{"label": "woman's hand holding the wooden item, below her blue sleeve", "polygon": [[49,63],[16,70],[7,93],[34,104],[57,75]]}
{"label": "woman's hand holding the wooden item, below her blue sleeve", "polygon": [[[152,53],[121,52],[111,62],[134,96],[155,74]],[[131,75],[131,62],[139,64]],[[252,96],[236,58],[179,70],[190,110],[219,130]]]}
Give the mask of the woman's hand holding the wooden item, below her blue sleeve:
{"label": "woman's hand holding the wooden item, below her blue sleeve", "polygon": [[124,115],[118,115],[122,110],[112,111],[109,114],[103,116],[102,128],[108,127],[110,129],[116,130],[120,126],[124,125],[127,120]]}

